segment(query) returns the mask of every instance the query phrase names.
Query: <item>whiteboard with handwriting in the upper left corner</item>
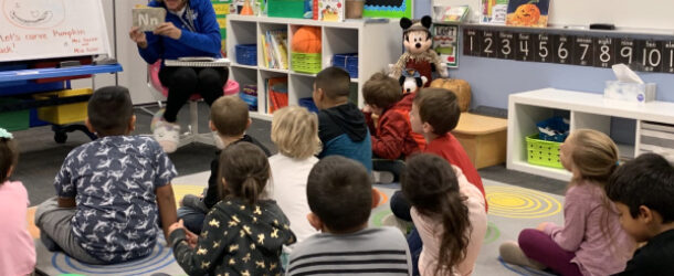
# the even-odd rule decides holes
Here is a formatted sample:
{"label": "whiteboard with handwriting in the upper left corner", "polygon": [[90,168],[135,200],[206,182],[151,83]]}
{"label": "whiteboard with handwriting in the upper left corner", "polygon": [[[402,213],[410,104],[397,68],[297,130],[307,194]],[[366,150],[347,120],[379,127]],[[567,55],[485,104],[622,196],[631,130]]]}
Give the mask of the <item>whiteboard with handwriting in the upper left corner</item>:
{"label": "whiteboard with handwriting in the upper left corner", "polygon": [[110,55],[101,1],[0,0],[0,62]]}

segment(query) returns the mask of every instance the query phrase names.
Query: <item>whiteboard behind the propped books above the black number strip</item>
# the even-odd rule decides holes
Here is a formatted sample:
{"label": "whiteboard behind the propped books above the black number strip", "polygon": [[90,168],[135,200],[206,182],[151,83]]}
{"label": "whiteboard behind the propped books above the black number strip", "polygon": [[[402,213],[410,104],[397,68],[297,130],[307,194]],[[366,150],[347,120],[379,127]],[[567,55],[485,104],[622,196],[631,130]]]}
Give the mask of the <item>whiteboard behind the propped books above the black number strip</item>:
{"label": "whiteboard behind the propped books above the black number strip", "polygon": [[[481,0],[433,0],[433,3],[468,4],[477,22]],[[673,11],[673,0],[550,0],[548,23],[555,26],[611,23],[623,29],[672,30]]]}

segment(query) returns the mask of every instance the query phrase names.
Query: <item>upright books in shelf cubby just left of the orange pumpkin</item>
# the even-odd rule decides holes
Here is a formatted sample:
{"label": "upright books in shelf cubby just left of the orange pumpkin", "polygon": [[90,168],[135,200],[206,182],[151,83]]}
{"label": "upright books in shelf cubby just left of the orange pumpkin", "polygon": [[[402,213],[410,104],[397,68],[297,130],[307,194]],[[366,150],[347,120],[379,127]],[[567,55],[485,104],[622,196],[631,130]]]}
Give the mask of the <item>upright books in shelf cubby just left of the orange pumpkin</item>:
{"label": "upright books in shelf cubby just left of the orange pumpkin", "polygon": [[260,38],[262,43],[262,56],[267,68],[287,70],[288,68],[288,51],[287,51],[287,31],[272,30],[267,31],[264,38]]}

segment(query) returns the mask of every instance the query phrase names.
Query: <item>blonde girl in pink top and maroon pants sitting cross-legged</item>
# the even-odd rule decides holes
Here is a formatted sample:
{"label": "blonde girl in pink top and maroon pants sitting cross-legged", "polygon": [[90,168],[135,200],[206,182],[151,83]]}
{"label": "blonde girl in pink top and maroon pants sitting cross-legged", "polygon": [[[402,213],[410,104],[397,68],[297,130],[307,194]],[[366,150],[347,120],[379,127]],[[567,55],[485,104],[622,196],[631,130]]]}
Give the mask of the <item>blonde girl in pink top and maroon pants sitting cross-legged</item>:
{"label": "blonde girl in pink top and maroon pants sitting cross-legged", "polygon": [[519,233],[519,245],[501,245],[508,263],[549,267],[561,275],[611,275],[622,272],[634,241],[620,227],[615,206],[603,187],[618,168],[618,147],[590,129],[571,132],[560,146],[561,164],[572,173],[565,195],[565,225],[544,222]]}

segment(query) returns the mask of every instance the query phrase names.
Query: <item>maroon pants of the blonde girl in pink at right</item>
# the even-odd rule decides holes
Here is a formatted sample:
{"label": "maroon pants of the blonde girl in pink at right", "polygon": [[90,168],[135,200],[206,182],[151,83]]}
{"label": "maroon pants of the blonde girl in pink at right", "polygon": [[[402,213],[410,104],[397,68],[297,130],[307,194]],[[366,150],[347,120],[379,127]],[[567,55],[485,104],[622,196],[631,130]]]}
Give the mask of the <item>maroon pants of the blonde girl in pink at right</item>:
{"label": "maroon pants of the blonde girl in pink at right", "polygon": [[519,232],[519,248],[527,257],[544,264],[561,275],[582,275],[580,267],[571,263],[576,257],[573,252],[568,252],[559,247],[552,238],[538,230],[525,229]]}

